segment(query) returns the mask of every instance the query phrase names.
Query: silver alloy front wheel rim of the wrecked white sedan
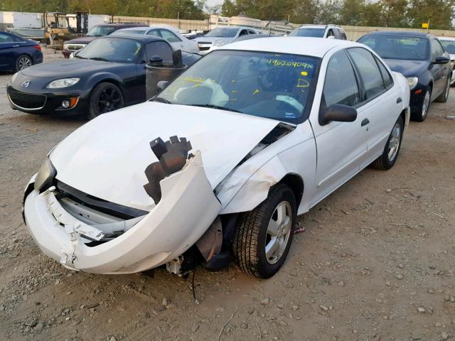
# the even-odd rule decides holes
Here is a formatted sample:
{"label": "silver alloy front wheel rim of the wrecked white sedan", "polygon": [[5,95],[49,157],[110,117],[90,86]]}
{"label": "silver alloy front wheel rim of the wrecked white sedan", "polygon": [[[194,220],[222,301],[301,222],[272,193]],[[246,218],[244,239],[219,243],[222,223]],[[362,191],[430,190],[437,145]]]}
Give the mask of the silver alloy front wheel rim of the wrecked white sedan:
{"label": "silver alloy front wheel rim of the wrecked white sedan", "polygon": [[276,264],[281,259],[289,241],[292,227],[292,210],[287,201],[275,208],[267,226],[265,258],[267,263]]}

